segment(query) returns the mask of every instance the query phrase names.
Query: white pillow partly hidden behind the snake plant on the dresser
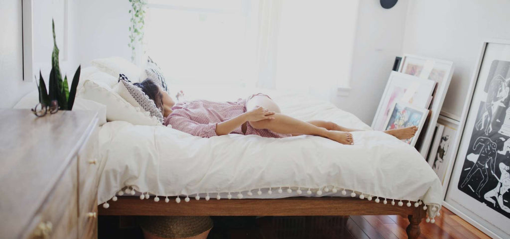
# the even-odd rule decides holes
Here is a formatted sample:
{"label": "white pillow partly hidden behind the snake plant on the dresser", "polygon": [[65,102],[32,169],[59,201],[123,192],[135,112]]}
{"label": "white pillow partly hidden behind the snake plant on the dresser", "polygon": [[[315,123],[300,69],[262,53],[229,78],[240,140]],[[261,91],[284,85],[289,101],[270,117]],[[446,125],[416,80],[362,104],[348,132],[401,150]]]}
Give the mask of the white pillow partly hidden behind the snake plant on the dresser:
{"label": "white pillow partly hidden behind the snake plant on the dresser", "polygon": [[[27,95],[23,96],[14,109],[32,109],[39,103],[39,92],[34,90]],[[99,126],[106,123],[106,105],[94,102],[92,100],[75,98],[74,104],[72,105],[73,111],[97,111],[97,117],[99,118]]]}

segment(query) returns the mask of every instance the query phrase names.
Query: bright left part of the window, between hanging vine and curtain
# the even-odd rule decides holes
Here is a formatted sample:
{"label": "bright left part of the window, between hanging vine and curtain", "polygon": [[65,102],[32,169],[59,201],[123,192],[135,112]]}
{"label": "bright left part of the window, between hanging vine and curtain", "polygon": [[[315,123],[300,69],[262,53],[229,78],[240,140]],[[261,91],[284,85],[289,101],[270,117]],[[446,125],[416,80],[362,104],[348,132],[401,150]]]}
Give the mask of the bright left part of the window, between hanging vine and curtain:
{"label": "bright left part of the window, between hanging vine and curtain", "polygon": [[147,54],[170,82],[244,86],[252,80],[247,68],[255,47],[247,1],[170,0],[148,6]]}

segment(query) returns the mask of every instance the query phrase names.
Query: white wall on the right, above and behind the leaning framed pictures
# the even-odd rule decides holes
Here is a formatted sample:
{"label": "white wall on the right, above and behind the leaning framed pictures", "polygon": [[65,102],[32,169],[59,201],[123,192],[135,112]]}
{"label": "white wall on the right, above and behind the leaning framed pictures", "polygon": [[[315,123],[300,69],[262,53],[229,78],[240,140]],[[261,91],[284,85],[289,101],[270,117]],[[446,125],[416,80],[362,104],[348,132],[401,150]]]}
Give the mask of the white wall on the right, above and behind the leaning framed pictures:
{"label": "white wall on the right, above and behind the leaning framed pictures", "polygon": [[453,61],[443,111],[461,116],[483,39],[510,39],[508,0],[413,0],[402,52]]}

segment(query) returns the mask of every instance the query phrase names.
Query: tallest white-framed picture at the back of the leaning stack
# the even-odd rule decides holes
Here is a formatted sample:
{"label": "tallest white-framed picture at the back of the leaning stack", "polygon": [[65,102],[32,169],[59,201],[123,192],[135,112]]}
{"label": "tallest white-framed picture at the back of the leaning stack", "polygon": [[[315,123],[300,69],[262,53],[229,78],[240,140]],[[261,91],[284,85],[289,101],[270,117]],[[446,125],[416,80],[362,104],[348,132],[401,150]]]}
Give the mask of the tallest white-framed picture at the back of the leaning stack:
{"label": "tallest white-framed picture at the back of the leaning stack", "polygon": [[437,87],[432,93],[430,108],[428,108],[430,109],[430,118],[424,125],[423,134],[417,145],[418,151],[426,158],[435,130],[433,125],[436,125],[443,107],[446,91],[450,86],[453,62],[406,54],[402,58],[402,64],[400,64],[398,71],[437,83]]}

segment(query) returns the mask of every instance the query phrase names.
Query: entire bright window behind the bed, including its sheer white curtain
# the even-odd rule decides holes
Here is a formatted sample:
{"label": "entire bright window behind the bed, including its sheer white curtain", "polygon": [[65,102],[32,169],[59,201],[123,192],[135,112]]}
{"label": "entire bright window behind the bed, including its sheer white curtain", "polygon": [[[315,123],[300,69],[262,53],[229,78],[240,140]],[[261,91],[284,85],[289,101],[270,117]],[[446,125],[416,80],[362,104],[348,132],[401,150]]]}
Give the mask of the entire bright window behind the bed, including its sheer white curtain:
{"label": "entire bright window behind the bed, including its sheer white curtain", "polygon": [[147,54],[174,84],[348,88],[358,1],[150,0]]}

